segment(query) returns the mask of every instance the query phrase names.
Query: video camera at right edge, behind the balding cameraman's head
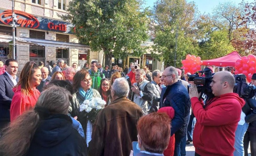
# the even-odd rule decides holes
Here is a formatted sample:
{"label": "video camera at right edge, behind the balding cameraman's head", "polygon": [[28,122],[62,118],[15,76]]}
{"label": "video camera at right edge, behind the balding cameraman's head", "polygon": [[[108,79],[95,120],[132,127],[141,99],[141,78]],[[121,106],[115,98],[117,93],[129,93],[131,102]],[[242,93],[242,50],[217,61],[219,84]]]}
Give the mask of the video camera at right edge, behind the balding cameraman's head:
{"label": "video camera at right edge, behind the balding cameraman's head", "polygon": [[251,99],[255,96],[256,87],[246,83],[246,76],[244,74],[234,75],[235,86],[234,93],[237,93],[243,99]]}

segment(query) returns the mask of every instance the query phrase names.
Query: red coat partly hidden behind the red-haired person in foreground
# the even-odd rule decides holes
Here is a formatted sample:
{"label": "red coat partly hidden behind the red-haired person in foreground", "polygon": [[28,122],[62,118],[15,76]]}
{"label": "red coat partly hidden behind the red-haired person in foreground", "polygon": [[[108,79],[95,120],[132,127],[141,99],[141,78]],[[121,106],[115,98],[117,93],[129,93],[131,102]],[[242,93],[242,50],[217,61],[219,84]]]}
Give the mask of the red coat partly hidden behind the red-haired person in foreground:
{"label": "red coat partly hidden behind the red-haired person in foreground", "polygon": [[[173,119],[174,117],[174,109],[172,107],[163,107],[160,108],[157,112],[166,112],[167,115]],[[173,156],[175,149],[175,134],[170,137],[170,141],[167,149],[164,150],[164,156]]]}

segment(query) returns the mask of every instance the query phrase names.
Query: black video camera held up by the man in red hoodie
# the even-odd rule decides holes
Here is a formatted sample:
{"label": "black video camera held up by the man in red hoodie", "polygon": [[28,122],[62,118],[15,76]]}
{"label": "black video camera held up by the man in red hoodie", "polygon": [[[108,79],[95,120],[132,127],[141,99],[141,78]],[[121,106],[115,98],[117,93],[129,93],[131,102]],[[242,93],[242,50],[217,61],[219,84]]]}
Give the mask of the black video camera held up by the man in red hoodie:
{"label": "black video camera held up by the man in red hoodie", "polygon": [[[205,76],[200,77],[199,73],[202,73],[202,74],[204,73]],[[194,81],[194,84],[197,87],[198,93],[201,92],[199,99],[202,98],[203,94],[205,94],[208,98],[214,97],[214,95],[212,94],[212,89],[210,87],[210,83],[212,82],[213,74],[212,74],[212,71],[210,68],[205,68],[203,71],[197,71],[196,74],[190,75],[188,77],[189,81]],[[188,92],[189,92],[189,87],[191,87],[191,85],[187,86]]]}

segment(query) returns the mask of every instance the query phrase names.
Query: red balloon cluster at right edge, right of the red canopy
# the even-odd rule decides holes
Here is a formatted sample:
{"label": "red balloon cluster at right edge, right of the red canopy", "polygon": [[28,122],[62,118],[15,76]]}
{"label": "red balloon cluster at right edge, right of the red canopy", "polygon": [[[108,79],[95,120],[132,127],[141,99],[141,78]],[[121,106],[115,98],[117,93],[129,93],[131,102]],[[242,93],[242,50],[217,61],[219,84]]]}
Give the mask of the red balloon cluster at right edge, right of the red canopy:
{"label": "red balloon cluster at right edge, right of the red canopy", "polygon": [[256,57],[254,55],[243,56],[235,62],[235,74],[244,74],[251,82],[252,74],[256,73]]}

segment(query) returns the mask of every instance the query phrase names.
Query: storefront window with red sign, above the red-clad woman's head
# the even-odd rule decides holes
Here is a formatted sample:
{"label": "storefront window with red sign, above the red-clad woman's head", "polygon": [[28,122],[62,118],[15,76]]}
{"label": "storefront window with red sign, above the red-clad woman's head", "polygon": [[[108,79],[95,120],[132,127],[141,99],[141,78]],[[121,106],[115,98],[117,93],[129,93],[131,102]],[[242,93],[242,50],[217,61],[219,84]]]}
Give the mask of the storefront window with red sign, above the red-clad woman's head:
{"label": "storefront window with red sign, above the red-clad woman's head", "polygon": [[30,44],[29,56],[30,61],[34,61],[37,64],[39,63],[39,61],[42,61],[45,64],[45,47]]}

